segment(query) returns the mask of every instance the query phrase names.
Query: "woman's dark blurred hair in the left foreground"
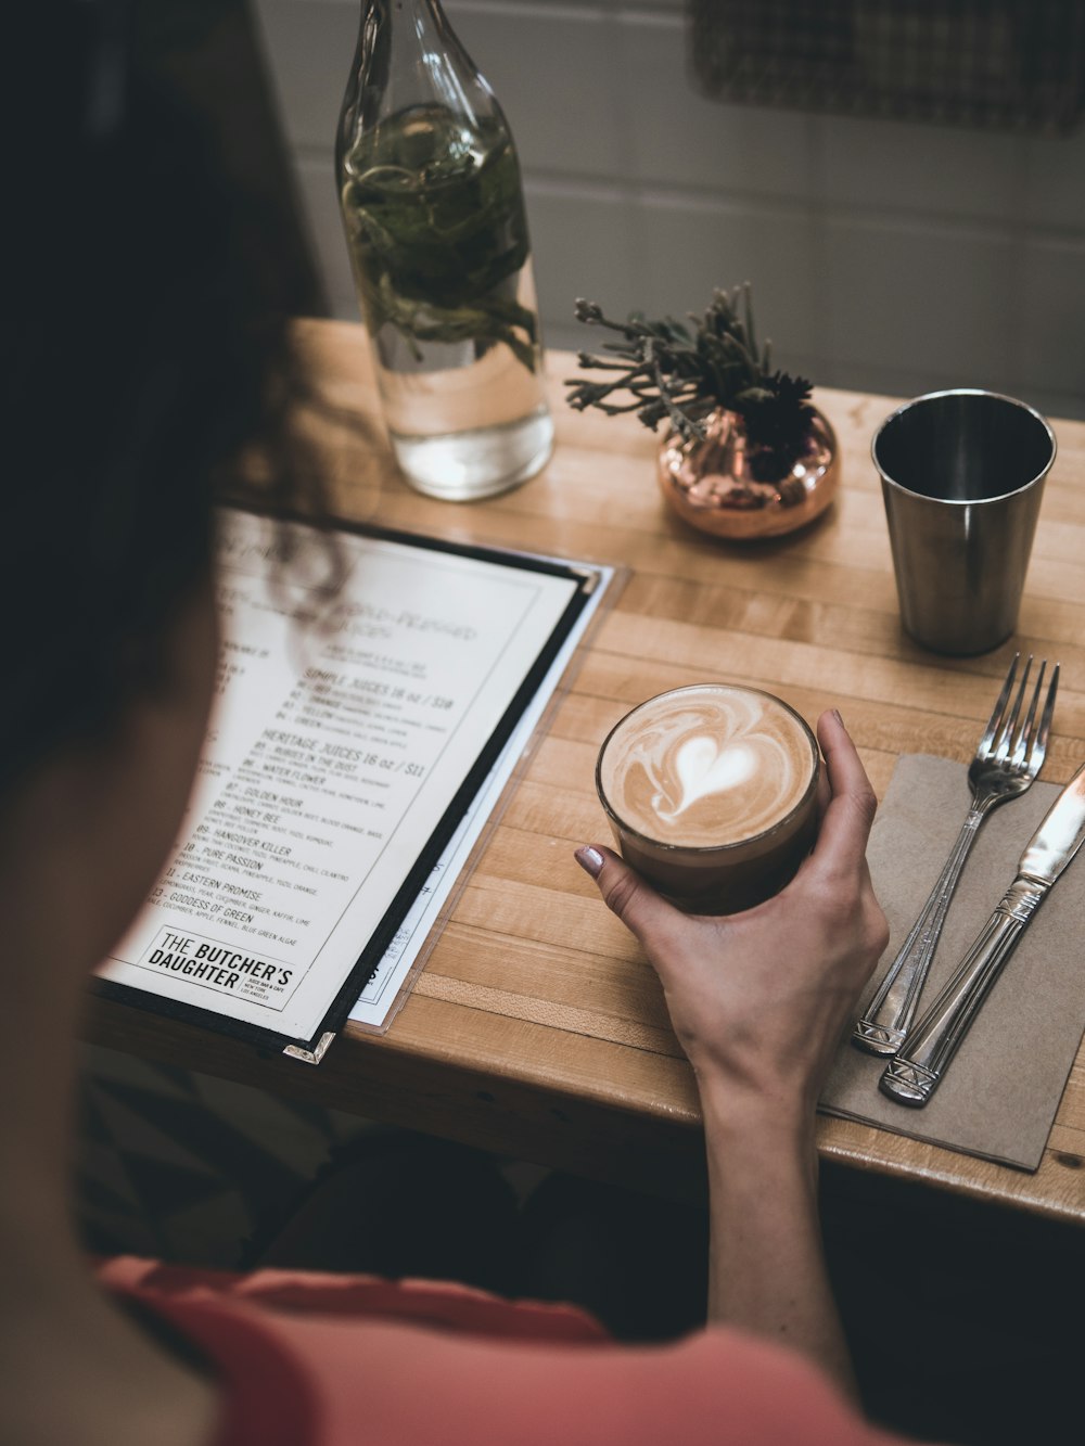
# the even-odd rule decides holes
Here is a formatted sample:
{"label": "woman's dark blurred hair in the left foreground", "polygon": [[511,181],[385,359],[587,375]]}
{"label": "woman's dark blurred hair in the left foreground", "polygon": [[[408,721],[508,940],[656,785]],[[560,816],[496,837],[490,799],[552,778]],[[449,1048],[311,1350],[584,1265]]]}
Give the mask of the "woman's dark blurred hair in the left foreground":
{"label": "woman's dark blurred hair in the left foreground", "polygon": [[321,510],[289,425],[275,227],[133,71],[114,6],[20,9],[43,23],[12,52],[32,156],[9,211],[0,794],[155,685],[246,448],[260,440],[269,500]]}

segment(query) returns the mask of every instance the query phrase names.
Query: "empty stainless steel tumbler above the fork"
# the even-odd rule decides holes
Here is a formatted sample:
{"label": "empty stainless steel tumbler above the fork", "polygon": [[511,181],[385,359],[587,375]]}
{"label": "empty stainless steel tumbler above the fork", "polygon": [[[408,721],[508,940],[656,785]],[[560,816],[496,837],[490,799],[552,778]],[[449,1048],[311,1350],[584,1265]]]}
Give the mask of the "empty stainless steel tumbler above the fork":
{"label": "empty stainless steel tumbler above the fork", "polygon": [[900,617],[935,652],[988,652],[1017,626],[1055,432],[995,392],[930,392],[878,428]]}

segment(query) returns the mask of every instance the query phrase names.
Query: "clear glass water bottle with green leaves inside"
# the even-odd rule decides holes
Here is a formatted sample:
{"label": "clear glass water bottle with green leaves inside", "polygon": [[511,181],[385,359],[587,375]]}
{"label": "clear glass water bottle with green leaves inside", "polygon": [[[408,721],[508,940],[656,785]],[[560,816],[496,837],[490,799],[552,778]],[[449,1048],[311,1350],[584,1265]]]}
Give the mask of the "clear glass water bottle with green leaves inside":
{"label": "clear glass water bottle with green leaves inside", "polygon": [[408,482],[460,502],[525,482],[554,427],[519,162],[438,0],[363,0],[336,175]]}

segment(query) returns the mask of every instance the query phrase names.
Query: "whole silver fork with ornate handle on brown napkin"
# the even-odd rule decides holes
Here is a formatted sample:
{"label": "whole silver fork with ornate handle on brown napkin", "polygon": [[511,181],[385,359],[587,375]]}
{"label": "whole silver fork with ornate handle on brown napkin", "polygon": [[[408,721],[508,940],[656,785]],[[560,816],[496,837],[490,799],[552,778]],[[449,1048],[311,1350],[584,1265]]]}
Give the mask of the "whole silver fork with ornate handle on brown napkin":
{"label": "whole silver fork with ornate handle on brown napkin", "polygon": [[998,694],[984,736],[979,739],[979,746],[968,766],[968,787],[972,792],[968,817],[942,873],[937,876],[930,898],[923,905],[900,953],[890,964],[867,1014],[856,1021],[852,1032],[852,1044],[856,1050],[865,1050],[868,1054],[895,1054],[904,1043],[930,969],[930,960],[937,949],[946,910],[953,898],[965,859],[979,833],[979,826],[998,804],[1004,804],[1010,798],[1020,798],[1043,766],[1052,713],[1055,711],[1055,694],[1059,687],[1059,664],[1056,662],[1052,671],[1039,729],[1036,727],[1036,713],[1040,704],[1043,674],[1047,668],[1046,659],[1040,664],[1036,677],[1029,713],[1018,727],[1029,672],[1033,665],[1030,656],[1007,716],[1007,703],[1017,675],[1018,659],[1020,654],[1014,654],[1003,691]]}

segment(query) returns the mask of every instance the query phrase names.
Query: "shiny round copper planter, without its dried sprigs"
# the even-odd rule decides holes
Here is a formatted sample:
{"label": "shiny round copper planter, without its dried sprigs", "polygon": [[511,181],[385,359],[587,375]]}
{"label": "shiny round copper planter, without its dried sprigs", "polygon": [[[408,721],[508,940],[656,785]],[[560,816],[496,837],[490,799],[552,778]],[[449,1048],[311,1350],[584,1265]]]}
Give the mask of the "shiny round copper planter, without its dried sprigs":
{"label": "shiny round copper planter, without its dried sprigs", "polygon": [[813,522],[836,495],[836,434],[822,412],[814,409],[807,447],[778,482],[755,476],[764,474],[765,458],[749,447],[738,414],[720,408],[706,427],[703,440],[664,437],[658,457],[664,497],[702,532],[738,541],[781,536]]}

